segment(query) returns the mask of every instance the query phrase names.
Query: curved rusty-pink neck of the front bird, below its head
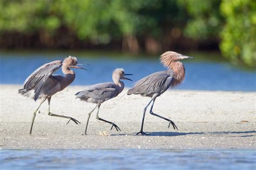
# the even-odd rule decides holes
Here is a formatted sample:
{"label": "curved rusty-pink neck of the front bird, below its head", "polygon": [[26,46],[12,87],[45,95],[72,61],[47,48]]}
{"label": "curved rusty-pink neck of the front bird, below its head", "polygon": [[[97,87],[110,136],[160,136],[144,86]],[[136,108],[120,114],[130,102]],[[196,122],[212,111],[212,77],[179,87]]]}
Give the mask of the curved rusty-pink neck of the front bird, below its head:
{"label": "curved rusty-pink neck of the front bird, below its head", "polygon": [[181,62],[173,61],[170,63],[169,69],[172,69],[174,72],[172,87],[176,87],[181,84],[185,78],[185,67]]}

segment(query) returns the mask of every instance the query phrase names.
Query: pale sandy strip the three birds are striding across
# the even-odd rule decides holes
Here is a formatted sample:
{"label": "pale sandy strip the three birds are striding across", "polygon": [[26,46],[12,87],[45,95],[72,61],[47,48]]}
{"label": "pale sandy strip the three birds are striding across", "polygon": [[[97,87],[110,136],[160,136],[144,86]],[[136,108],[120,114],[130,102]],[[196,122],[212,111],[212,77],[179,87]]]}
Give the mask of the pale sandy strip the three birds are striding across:
{"label": "pale sandy strip the three birds are striding across", "polygon": [[[122,131],[110,131],[111,125],[98,121],[92,113],[88,135],[85,129],[87,113],[95,104],[75,99],[74,94],[85,86],[69,86],[55,94],[51,112],[68,115],[81,122],[50,117],[47,101],[36,115],[32,135],[29,128],[32,113],[39,101],[18,94],[22,85],[0,85],[2,149],[255,149],[256,92],[179,91],[170,90],[157,98],[154,112],[173,120],[169,123],[146,113],[144,131],[150,135],[135,135],[140,130],[143,109],[150,98],[120,97],[106,101],[99,117],[113,121]],[[100,132],[105,132],[100,135]]]}

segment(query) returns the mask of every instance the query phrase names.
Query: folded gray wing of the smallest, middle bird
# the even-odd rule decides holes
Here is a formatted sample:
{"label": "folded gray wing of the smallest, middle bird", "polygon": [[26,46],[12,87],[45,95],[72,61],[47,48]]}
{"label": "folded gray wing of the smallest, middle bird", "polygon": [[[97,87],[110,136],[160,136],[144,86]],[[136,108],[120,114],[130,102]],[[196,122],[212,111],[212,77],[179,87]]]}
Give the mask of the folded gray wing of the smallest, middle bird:
{"label": "folded gray wing of the smallest, middle bird", "polygon": [[84,91],[80,91],[76,93],[77,98],[92,98],[96,100],[109,100],[113,97],[116,97],[118,94],[118,90],[111,87],[90,87],[89,89],[85,89]]}

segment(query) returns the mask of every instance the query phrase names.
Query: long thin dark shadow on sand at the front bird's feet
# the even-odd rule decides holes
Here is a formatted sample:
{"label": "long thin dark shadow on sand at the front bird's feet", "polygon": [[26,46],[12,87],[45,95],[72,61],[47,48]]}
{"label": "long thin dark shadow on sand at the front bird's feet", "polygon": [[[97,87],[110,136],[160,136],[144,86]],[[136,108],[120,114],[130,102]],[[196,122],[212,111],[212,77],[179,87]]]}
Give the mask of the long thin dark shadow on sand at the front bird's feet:
{"label": "long thin dark shadow on sand at the front bird's feet", "polygon": [[[176,137],[176,136],[182,136],[182,135],[193,135],[193,134],[199,134],[199,135],[206,135],[206,134],[223,134],[223,135],[230,135],[230,134],[236,134],[236,137],[252,137],[256,135],[256,131],[242,131],[242,132],[231,132],[231,131],[223,131],[223,132],[145,132],[149,133],[143,136],[149,136],[149,137]],[[136,133],[130,133],[130,134],[112,134],[112,135],[136,135]],[[142,136],[142,135],[136,135],[136,136]]]}

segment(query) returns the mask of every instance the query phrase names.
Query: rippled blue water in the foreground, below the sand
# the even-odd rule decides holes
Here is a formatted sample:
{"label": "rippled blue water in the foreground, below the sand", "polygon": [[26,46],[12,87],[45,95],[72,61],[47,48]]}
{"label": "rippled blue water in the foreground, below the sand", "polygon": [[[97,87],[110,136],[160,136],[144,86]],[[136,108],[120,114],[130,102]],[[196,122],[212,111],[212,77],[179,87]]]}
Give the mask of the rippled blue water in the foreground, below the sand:
{"label": "rippled blue water in the foreground, below the sand", "polygon": [[253,150],[2,150],[1,169],[255,169]]}

